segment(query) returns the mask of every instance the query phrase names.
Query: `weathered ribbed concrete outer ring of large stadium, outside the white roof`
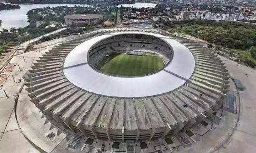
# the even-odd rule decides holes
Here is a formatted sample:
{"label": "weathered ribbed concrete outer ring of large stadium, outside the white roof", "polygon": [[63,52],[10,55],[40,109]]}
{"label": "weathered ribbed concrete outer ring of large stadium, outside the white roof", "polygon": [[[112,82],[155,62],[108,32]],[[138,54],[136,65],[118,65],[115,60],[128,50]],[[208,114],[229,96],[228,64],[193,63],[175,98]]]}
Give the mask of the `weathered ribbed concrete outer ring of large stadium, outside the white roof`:
{"label": "weathered ribbed concrete outer ring of large stadium, outside the white roof", "polygon": [[[141,98],[109,97],[74,86],[63,74],[67,54],[82,42],[130,29],[98,30],[46,52],[25,79],[31,101],[58,129],[100,140],[153,140],[184,135],[219,109],[228,87],[228,73],[214,53],[186,38],[159,31],[193,54],[195,70],[187,82],[167,93]],[[181,133],[180,133],[181,131]]]}

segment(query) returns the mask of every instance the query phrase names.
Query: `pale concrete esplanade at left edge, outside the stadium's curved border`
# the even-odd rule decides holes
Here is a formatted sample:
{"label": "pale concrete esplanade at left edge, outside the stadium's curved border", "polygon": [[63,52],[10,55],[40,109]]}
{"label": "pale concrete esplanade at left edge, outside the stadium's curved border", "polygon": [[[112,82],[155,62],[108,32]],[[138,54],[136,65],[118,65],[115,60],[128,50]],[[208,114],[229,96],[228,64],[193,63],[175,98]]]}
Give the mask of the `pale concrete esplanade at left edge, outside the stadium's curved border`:
{"label": "pale concrete esplanade at left edge, outside the stadium's curved border", "polygon": [[[25,59],[25,61],[24,61]],[[22,82],[16,83],[18,78],[29,70],[34,57],[19,57],[14,56],[11,63],[19,64],[22,71],[16,65],[10,73],[4,86],[0,90],[0,152],[2,153],[39,153],[30,143],[25,139],[20,131],[14,116],[14,98],[19,92]],[[13,75],[13,78],[11,77]],[[6,97],[3,90],[6,91],[9,98]]]}

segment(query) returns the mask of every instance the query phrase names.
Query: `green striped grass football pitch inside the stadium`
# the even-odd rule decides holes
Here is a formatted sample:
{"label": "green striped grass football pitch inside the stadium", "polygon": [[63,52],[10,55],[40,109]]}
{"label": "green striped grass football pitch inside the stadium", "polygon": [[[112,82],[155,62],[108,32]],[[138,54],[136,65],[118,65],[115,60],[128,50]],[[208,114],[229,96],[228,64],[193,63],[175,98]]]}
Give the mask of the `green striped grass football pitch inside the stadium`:
{"label": "green striped grass football pitch inside the stadium", "polygon": [[103,73],[119,76],[139,76],[160,70],[164,64],[156,55],[110,55],[110,59],[100,68]]}

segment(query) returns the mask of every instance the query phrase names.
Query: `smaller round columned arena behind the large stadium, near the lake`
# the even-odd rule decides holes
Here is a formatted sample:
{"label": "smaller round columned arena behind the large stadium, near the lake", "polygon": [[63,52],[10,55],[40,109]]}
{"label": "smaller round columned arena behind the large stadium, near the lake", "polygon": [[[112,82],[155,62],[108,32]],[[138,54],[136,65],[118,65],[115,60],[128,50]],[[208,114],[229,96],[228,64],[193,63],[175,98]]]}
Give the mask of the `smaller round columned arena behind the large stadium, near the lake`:
{"label": "smaller round columned arena behind the large stadium, near the lake", "polygon": [[77,24],[77,23],[96,23],[103,16],[99,14],[71,14],[64,16],[65,23],[67,25]]}

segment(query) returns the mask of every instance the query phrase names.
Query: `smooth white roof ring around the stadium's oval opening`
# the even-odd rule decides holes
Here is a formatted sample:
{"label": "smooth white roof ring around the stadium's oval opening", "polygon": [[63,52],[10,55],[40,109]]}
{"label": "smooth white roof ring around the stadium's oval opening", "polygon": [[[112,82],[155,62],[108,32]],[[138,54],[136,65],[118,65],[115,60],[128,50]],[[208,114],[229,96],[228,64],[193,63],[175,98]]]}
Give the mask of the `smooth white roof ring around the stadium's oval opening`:
{"label": "smooth white roof ring around the stadium's oval opening", "polygon": [[[95,71],[87,54],[99,41],[119,34],[147,34],[165,40],[173,48],[173,59],[157,73],[142,77],[115,77]],[[75,86],[113,97],[147,97],[182,86],[193,74],[195,60],[187,47],[167,36],[143,32],[117,32],[94,37],[75,47],[66,57],[63,72]]]}

